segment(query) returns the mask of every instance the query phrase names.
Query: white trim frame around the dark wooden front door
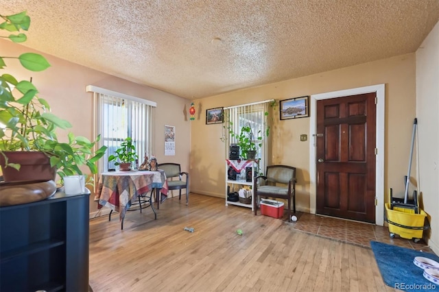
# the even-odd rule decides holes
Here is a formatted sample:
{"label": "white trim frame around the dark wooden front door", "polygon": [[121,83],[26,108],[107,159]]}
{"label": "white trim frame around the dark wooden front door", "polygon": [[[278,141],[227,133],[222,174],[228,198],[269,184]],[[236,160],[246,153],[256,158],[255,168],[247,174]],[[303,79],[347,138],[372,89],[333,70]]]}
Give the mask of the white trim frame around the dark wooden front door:
{"label": "white trim frame around the dark wooden front door", "polygon": [[361,95],[364,93],[377,93],[377,123],[376,123],[376,143],[377,155],[375,156],[375,197],[377,206],[375,206],[375,224],[384,225],[384,110],[385,110],[385,84],[338,90],[330,93],[319,93],[311,95],[309,134],[312,135],[313,141],[309,143],[309,211],[316,214],[317,204],[317,168],[316,168],[316,136],[317,134],[317,101],[322,99],[331,99],[337,97],[346,97],[349,95]]}

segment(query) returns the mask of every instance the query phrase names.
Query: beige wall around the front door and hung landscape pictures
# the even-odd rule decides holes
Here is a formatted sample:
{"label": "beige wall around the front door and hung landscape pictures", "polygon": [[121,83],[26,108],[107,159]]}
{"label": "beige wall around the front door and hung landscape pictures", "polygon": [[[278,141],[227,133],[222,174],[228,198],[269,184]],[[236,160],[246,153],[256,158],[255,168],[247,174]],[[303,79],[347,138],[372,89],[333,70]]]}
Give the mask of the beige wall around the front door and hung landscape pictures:
{"label": "beige wall around the front door and hung landscape pictures", "polygon": [[[407,174],[412,123],[416,108],[414,53],[319,73],[276,84],[239,90],[197,101],[202,109],[233,106],[265,99],[289,99],[303,95],[327,93],[336,90],[385,84],[385,189],[394,189],[394,195],[404,194],[403,177]],[[204,114],[204,112],[203,112]],[[272,162],[298,168],[297,209],[310,210],[309,189],[309,118],[280,121],[274,112],[271,137]],[[194,121],[191,138],[191,191],[224,197],[226,153],[219,141],[222,125],[205,125],[204,119]],[[308,141],[300,142],[300,134],[307,134]],[[414,162],[416,165],[416,162]],[[413,173],[413,172],[412,172]],[[387,194],[385,196],[387,199]],[[314,206],[315,207],[315,206]]]}

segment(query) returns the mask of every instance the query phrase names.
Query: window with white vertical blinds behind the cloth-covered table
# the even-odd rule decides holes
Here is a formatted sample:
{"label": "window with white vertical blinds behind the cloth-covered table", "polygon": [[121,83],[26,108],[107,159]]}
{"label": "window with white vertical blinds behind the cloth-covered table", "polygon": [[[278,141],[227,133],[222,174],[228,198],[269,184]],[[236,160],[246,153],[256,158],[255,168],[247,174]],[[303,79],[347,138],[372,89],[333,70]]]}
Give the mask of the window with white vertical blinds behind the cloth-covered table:
{"label": "window with white vertical blinds behind the cloth-covered table", "polygon": [[104,158],[99,160],[99,173],[114,169],[114,162],[108,162],[113,154],[127,138],[132,138],[139,160],[145,154],[152,154],[153,109],[152,101],[123,95],[114,91],[87,86],[88,91],[95,94],[96,134],[101,135],[100,145],[108,147]]}

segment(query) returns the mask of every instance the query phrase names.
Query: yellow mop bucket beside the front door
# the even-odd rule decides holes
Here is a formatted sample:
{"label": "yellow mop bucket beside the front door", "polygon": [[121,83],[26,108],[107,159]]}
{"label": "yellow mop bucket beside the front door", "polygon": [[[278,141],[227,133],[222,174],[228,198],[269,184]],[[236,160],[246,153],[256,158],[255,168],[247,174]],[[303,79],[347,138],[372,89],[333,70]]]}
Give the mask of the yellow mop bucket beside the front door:
{"label": "yellow mop bucket beside the front door", "polygon": [[419,214],[410,208],[393,207],[385,203],[387,214],[386,221],[389,223],[390,237],[398,234],[403,239],[414,239],[415,242],[423,238],[424,222],[427,213],[419,208]]}

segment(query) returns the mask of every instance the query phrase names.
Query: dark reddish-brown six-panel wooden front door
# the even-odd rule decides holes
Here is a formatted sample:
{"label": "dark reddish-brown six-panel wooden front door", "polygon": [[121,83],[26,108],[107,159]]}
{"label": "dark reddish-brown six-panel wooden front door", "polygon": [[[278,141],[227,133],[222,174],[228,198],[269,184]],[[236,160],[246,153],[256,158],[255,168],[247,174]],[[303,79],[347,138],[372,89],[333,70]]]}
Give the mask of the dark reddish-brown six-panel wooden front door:
{"label": "dark reddish-brown six-panel wooden front door", "polygon": [[376,93],[317,101],[317,212],[375,223]]}

